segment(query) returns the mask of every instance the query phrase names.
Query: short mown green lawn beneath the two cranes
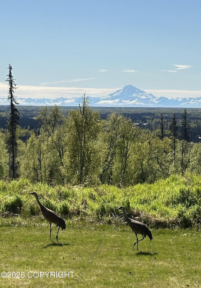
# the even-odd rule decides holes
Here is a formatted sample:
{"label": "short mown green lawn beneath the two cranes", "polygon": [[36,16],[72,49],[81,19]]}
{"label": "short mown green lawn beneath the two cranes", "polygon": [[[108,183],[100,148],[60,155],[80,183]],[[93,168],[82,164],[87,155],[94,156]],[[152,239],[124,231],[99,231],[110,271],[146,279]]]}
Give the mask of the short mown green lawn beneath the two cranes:
{"label": "short mown green lawn beneath the two cranes", "polygon": [[[48,223],[42,221],[1,225],[0,272],[24,272],[24,278],[0,277],[0,287],[201,287],[201,233],[196,230],[152,229],[153,240],[140,241],[139,250],[126,225],[67,221],[58,243],[56,234],[52,225],[49,240]],[[29,271],[36,278],[29,278]],[[74,273],[72,278],[37,277],[40,271]]]}

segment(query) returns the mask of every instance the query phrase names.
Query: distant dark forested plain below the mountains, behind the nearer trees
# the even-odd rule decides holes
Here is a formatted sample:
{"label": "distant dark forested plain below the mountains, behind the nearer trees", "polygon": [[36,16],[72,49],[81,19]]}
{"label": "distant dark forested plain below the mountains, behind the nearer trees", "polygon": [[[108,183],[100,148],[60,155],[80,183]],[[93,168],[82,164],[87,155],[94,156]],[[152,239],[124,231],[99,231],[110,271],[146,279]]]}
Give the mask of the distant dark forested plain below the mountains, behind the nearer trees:
{"label": "distant dark forested plain below the mountains, behind the nearer trees", "polygon": [[[41,109],[40,106],[17,106],[20,114],[19,126],[23,129],[36,129],[41,127],[41,123],[37,118]],[[69,112],[77,107],[61,106],[60,110],[64,117],[68,117]],[[168,130],[172,121],[172,115],[177,116],[178,129],[181,130],[181,119],[184,108],[154,108],[154,107],[91,107],[91,110],[97,110],[100,118],[106,120],[108,115],[117,113],[124,117],[130,118],[133,123],[139,123],[142,129],[149,129],[150,131],[160,129],[161,113],[164,118],[164,129]],[[0,131],[5,132],[8,126],[10,107],[0,105]],[[201,108],[188,108],[188,121],[190,124],[189,139],[197,143],[200,142],[198,138],[201,135]],[[25,137],[22,137],[25,140]]]}

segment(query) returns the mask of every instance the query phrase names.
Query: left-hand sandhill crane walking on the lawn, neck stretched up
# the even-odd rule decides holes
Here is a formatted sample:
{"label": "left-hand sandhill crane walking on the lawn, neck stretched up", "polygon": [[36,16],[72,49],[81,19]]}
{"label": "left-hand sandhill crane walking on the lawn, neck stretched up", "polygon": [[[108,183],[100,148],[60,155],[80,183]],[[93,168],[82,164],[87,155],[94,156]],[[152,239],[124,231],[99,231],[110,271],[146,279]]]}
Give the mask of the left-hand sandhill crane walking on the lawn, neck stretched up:
{"label": "left-hand sandhill crane walking on the lawn, neck stretched up", "polygon": [[[37,200],[37,202],[38,202],[38,204],[39,204],[39,206],[41,208],[41,212],[42,212],[44,218],[50,223],[50,239],[51,239],[51,232],[52,232],[52,228],[51,228],[52,223],[55,223],[57,227],[59,226],[59,228],[61,227],[62,230],[66,229],[66,223],[62,219],[62,217],[59,217],[59,215],[56,212],[54,212],[54,211],[46,208],[45,206],[43,206],[41,204],[41,202],[39,201],[38,194],[36,192],[32,192],[32,193],[28,193],[28,194],[31,194],[31,195],[35,196],[35,198],[36,198],[36,200]],[[59,229],[58,229],[57,237],[56,237],[57,241],[58,241],[58,233],[59,233]]]}

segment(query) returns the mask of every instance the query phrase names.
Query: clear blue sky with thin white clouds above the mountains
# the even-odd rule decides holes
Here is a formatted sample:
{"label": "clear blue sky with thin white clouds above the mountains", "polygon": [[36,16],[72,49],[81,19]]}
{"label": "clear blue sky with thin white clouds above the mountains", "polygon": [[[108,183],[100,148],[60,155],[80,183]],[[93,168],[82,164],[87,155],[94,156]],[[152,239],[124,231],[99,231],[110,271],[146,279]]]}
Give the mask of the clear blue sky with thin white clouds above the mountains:
{"label": "clear blue sky with thin white clouds above the mountains", "polygon": [[2,1],[0,97],[8,64],[19,93],[33,97],[44,87],[97,96],[128,84],[201,96],[200,11],[200,0]]}

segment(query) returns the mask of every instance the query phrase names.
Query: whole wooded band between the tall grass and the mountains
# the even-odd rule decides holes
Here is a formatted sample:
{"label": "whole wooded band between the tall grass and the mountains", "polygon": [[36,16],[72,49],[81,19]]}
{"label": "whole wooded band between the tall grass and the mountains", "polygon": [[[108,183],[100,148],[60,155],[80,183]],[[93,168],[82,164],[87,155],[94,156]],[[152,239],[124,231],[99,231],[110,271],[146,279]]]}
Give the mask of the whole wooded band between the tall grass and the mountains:
{"label": "whole wooded band between the tall grass and the mountains", "polygon": [[[154,182],[201,172],[199,109],[18,107],[17,175],[32,183]],[[9,107],[0,107],[0,178],[8,173]]]}

